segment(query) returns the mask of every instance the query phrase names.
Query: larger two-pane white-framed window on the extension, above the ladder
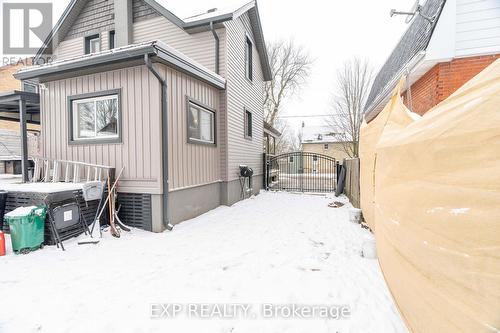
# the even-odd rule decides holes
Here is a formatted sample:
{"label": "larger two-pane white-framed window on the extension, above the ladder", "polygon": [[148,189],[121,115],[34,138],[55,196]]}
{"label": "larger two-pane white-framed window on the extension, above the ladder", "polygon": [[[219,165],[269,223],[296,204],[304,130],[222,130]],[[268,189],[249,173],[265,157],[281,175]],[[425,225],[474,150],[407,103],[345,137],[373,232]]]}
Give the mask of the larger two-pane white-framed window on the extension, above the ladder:
{"label": "larger two-pane white-framed window on the extension, above the ladder", "polygon": [[118,93],[70,97],[73,142],[117,142],[119,137],[120,100]]}

